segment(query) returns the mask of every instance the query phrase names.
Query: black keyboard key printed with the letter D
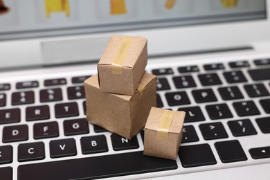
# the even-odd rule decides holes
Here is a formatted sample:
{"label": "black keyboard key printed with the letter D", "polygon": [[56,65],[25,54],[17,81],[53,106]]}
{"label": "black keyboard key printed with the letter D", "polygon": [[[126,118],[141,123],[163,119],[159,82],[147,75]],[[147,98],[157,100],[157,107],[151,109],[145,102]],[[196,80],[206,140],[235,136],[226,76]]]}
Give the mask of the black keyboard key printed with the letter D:
{"label": "black keyboard key printed with the letter D", "polygon": [[3,143],[28,140],[28,126],[16,125],[3,127]]}

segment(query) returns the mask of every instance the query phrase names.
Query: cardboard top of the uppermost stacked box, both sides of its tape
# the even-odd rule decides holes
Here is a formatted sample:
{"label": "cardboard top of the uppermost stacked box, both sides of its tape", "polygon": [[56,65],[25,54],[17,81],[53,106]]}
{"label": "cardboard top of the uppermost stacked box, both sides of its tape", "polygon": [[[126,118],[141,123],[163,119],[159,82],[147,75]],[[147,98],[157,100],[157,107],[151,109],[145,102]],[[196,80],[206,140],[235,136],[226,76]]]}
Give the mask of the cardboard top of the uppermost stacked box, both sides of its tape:
{"label": "cardboard top of the uppermost stacked box, both sides of its tape", "polygon": [[[119,46],[122,42],[123,36],[114,35],[109,40],[105,51],[98,62],[98,65],[111,65],[113,63],[114,57],[116,57],[116,53],[118,52]],[[143,48],[145,48],[147,44],[147,39],[144,37],[132,37],[131,42],[129,43],[129,48],[125,53],[125,57],[123,60],[123,67],[132,69],[134,64],[136,64],[136,60],[143,52]],[[132,58],[130,58],[132,57]]]}

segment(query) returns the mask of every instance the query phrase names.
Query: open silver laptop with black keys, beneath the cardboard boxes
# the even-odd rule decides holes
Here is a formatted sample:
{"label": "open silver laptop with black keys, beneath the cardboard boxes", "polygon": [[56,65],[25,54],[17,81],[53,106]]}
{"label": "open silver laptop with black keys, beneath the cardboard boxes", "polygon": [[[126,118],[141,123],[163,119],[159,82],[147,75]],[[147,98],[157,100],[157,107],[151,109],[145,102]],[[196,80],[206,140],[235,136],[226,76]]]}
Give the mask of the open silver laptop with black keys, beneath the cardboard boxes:
{"label": "open silver laptop with black keys, beneath the cardboard boxes", "polygon": [[[268,0],[1,0],[0,179],[270,179]],[[148,40],[177,160],[86,120],[111,35]],[[102,112],[100,112],[102,113]]]}

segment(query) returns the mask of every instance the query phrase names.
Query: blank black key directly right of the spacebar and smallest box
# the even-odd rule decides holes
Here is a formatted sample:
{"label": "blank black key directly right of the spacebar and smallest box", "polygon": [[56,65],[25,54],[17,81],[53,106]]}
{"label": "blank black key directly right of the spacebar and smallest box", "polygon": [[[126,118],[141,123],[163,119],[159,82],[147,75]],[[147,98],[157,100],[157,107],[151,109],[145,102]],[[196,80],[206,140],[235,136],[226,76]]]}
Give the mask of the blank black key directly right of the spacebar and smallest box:
{"label": "blank black key directly right of the spacebar and smallest box", "polygon": [[179,149],[179,158],[183,168],[216,164],[215,156],[208,144],[185,145]]}

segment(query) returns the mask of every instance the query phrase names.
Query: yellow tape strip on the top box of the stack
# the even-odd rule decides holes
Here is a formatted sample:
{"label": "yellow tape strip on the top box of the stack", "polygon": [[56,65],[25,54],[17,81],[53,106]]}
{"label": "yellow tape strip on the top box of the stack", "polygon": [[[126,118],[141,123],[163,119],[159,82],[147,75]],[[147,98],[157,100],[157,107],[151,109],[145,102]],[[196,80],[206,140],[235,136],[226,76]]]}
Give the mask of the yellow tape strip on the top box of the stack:
{"label": "yellow tape strip on the top box of the stack", "polygon": [[122,74],[122,66],[125,60],[125,55],[127,55],[127,51],[132,42],[132,37],[122,37],[120,45],[116,51],[116,55],[114,56],[114,60],[112,61],[111,72],[114,74]]}

